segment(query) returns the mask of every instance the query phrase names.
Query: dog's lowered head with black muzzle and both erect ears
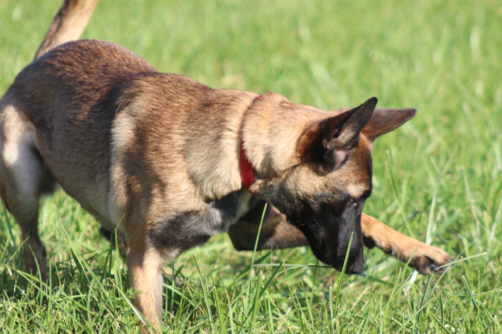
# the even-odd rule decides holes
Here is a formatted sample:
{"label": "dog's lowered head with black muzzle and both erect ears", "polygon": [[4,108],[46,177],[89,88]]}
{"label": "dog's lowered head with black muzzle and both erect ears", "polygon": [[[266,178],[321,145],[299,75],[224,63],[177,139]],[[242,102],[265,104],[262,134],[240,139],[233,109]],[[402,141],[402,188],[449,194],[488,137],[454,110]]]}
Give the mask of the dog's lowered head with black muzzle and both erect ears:
{"label": "dog's lowered head with black muzzle and both erect ears", "polygon": [[260,185],[322,262],[341,270],[352,236],[347,273],[362,272],[364,264],[360,222],[371,194],[372,142],[416,113],[375,109],[376,101],[307,122],[294,143],[299,163]]}

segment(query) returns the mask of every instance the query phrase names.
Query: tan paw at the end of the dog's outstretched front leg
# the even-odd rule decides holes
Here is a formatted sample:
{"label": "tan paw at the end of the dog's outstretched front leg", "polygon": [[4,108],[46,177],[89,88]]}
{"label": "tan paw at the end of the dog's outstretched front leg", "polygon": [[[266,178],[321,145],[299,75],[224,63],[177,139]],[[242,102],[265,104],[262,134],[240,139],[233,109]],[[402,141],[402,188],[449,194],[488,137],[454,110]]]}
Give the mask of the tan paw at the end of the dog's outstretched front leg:
{"label": "tan paw at the end of the dog's outstretched front leg", "polygon": [[412,256],[410,266],[417,269],[421,274],[430,274],[432,272],[442,273],[447,267],[437,268],[453,261],[453,257],[441,248],[429,246],[424,243],[418,243],[407,247],[407,251],[404,253],[408,254],[403,254],[405,256],[401,260],[407,262]]}

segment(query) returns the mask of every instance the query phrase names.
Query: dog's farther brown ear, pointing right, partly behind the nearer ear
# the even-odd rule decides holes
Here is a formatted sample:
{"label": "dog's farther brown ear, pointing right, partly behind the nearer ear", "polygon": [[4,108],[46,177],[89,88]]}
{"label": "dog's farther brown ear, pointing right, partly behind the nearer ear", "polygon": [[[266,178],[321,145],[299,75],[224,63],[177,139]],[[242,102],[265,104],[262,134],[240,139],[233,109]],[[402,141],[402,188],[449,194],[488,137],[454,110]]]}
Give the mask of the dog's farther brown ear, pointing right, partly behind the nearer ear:
{"label": "dog's farther brown ear, pointing right, partly behind the nearer ear", "polygon": [[412,108],[375,109],[369,122],[362,129],[362,134],[373,141],[376,137],[391,132],[416,114],[417,109]]}

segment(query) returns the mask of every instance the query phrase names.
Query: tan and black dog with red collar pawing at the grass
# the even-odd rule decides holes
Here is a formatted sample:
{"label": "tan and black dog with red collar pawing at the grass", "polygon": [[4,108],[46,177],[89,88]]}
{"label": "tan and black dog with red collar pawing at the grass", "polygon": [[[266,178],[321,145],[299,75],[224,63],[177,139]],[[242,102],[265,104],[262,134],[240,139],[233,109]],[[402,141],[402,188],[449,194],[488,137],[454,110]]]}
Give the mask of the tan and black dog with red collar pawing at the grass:
{"label": "tan and black dog with red collar pawing at the grass", "polygon": [[46,270],[38,204],[56,183],[128,240],[135,303],[157,325],[164,263],[223,232],[252,249],[264,203],[261,249],[309,245],[341,269],[353,235],[348,273],[362,271],[363,244],[413,255],[422,273],[451,261],[362,214],[373,140],[416,110],[375,109],[371,98],[322,111],[159,73],[111,43],[65,43],[97,2],[64,2],[0,101],[0,196],[27,240],[29,270]]}

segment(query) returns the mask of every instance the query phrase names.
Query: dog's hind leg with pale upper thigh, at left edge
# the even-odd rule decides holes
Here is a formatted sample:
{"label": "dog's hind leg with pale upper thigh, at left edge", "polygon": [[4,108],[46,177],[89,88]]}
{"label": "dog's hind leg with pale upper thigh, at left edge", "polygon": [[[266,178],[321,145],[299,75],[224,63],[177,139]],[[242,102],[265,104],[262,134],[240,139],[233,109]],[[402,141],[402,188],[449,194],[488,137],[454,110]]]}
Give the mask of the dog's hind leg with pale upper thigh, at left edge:
{"label": "dog's hind leg with pale upper thigh, at left edge", "polygon": [[21,227],[23,257],[28,271],[37,265],[45,280],[46,253],[38,234],[41,192],[54,189],[34,143],[33,126],[14,104],[0,102],[0,197]]}

